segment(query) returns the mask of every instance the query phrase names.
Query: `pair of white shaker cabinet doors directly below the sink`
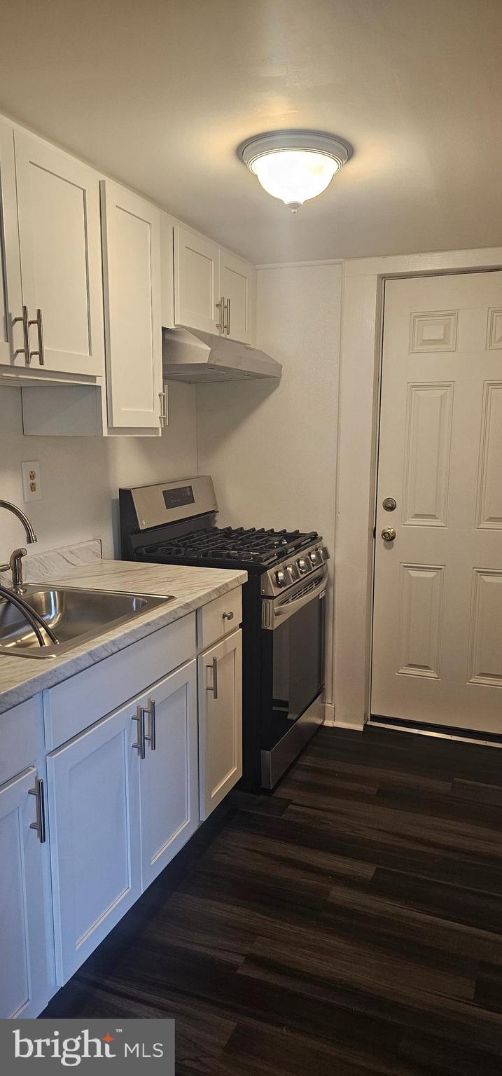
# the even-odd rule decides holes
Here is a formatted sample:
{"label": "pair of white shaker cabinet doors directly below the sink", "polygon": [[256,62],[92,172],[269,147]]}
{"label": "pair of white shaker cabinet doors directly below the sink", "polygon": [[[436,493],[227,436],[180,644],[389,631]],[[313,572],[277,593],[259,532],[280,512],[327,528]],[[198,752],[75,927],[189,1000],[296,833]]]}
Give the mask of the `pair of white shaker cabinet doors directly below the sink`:
{"label": "pair of white shaker cabinet doors directly below the sink", "polygon": [[193,659],[47,756],[62,985],[199,824]]}

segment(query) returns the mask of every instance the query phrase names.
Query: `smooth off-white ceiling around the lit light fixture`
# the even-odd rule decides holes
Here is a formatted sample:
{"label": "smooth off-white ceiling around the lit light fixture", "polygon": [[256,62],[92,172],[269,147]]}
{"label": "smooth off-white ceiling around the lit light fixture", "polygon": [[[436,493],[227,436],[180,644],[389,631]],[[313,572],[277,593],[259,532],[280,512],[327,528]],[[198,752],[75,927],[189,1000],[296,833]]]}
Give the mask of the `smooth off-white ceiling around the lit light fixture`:
{"label": "smooth off-white ceiling around the lit light fixture", "polygon": [[[502,244],[501,0],[0,0],[0,110],[256,263]],[[235,154],[354,157],[291,215]]]}

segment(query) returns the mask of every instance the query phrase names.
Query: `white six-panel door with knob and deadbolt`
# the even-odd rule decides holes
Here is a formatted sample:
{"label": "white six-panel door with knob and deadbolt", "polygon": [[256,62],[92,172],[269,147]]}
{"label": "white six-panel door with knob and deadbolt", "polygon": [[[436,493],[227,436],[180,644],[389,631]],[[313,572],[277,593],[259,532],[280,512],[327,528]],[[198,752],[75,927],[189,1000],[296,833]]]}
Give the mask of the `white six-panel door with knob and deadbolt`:
{"label": "white six-panel door with knob and deadbolt", "polygon": [[373,714],[502,732],[501,475],[502,272],[387,282]]}

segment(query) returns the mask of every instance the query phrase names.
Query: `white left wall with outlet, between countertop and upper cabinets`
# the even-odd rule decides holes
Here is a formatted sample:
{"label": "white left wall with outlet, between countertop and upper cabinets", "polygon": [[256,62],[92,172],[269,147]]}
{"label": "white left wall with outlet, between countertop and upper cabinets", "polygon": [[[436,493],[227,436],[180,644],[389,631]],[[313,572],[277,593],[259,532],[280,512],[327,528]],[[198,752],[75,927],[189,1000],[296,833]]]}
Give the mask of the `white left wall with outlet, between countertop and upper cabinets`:
{"label": "white left wall with outlet, between countertop and upper cabinets", "polygon": [[[169,402],[169,426],[158,439],[24,437],[20,390],[0,387],[0,497],[26,511],[38,551],[102,538],[103,555],[118,555],[118,486],[197,472],[195,387],[171,385]],[[24,459],[39,459],[42,470],[42,500],[28,505]],[[0,560],[23,543],[20,524],[0,510]]]}

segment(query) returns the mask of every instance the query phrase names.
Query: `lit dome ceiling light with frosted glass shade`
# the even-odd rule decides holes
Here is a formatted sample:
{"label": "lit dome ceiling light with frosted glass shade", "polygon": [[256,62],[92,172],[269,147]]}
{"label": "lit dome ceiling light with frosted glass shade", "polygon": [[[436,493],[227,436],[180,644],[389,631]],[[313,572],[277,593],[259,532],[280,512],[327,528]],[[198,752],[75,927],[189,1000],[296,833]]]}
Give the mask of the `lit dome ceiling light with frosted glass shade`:
{"label": "lit dome ceiling light with frosted glass shade", "polygon": [[239,146],[239,154],[264,190],[296,213],[329,187],[352,156],[352,147],[322,131],[269,131]]}

